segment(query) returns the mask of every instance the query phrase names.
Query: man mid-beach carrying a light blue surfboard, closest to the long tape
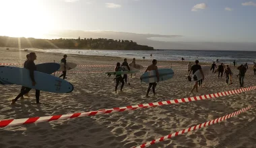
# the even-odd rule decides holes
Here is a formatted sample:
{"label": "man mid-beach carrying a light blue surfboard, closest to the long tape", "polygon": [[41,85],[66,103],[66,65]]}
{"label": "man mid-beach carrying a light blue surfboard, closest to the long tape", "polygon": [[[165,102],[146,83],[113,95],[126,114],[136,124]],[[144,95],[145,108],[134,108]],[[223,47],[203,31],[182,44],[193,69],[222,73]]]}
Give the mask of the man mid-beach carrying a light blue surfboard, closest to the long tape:
{"label": "man mid-beach carrying a light blue surfboard, closest to the long tape", "polygon": [[[145,73],[147,71],[156,71],[156,77],[159,81],[159,73],[158,73],[158,67],[156,66],[156,64],[158,63],[158,61],[156,61],[156,59],[154,59],[152,61],[152,65],[148,66],[148,68],[146,69]],[[157,81],[157,82],[158,82]],[[147,90],[147,94],[146,94],[146,97],[149,97],[148,94],[150,93],[150,89],[152,87],[152,90],[153,90],[153,93],[154,93],[154,96],[156,95],[156,82],[154,83],[149,83],[148,84],[148,90]]]}

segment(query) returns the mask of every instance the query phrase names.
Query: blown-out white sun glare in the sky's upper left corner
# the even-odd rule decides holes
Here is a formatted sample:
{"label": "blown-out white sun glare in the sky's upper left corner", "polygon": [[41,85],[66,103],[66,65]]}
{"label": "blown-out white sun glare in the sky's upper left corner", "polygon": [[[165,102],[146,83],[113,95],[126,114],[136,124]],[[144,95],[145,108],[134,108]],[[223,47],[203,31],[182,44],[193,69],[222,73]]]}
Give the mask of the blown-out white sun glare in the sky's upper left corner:
{"label": "blown-out white sun glare in the sky's upper left corner", "polygon": [[54,26],[40,1],[1,0],[0,6],[0,36],[42,38]]}

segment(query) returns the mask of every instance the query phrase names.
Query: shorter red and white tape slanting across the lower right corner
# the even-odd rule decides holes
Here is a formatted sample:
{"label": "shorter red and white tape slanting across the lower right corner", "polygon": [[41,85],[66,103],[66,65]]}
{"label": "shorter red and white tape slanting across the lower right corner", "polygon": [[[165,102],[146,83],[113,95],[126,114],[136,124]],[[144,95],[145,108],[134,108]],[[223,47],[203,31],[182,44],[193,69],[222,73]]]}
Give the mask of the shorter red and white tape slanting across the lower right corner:
{"label": "shorter red and white tape slanting across the lower right corner", "polygon": [[238,110],[236,112],[233,112],[232,114],[227,114],[226,116],[222,116],[220,118],[216,118],[214,120],[210,120],[210,121],[207,121],[207,122],[204,122],[204,123],[201,123],[201,124],[197,124],[195,126],[191,126],[187,129],[183,129],[179,132],[176,132],[176,133],[172,133],[170,135],[166,135],[164,137],[161,137],[159,139],[155,139],[153,141],[150,141],[150,142],[147,142],[147,143],[144,143],[142,145],[139,145],[137,147],[133,147],[133,148],[142,148],[142,147],[149,147],[150,145],[154,145],[156,143],[160,143],[161,141],[166,141],[167,139],[171,139],[173,137],[177,137],[178,135],[183,135],[184,133],[188,133],[190,131],[195,131],[199,128],[203,128],[203,127],[206,127],[206,126],[210,126],[212,124],[216,124],[216,123],[219,123],[219,122],[222,122],[223,120],[226,120],[228,118],[231,118],[233,116],[236,116],[238,114],[241,114],[242,112],[246,112],[247,110],[253,108],[255,106],[255,104],[253,104],[252,106],[248,106],[247,108],[243,108],[241,110]]}

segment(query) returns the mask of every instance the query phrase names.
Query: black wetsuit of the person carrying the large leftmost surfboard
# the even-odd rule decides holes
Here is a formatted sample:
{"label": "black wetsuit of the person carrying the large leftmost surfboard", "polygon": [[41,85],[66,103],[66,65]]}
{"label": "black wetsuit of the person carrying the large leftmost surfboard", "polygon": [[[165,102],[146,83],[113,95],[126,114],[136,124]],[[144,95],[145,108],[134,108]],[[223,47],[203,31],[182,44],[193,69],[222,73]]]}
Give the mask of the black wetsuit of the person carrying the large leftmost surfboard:
{"label": "black wetsuit of the person carrying the large leftmost surfboard", "polygon": [[[32,81],[34,80],[34,71],[36,71],[36,65],[34,64],[34,61],[28,61],[26,64],[27,69],[30,71],[30,79]],[[27,94],[32,88],[25,87],[24,91],[22,91],[14,100],[15,102],[21,97],[24,96],[24,94]],[[36,103],[39,103],[39,97],[40,97],[40,90],[36,89]]]}

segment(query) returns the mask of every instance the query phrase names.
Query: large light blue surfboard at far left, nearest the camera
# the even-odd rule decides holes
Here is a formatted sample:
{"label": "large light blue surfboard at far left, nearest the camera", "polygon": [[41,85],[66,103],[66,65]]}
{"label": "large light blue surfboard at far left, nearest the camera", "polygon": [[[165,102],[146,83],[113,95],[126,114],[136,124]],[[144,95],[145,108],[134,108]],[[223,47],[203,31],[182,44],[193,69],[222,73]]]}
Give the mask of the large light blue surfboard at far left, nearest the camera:
{"label": "large light blue surfboard at far left, nearest the camera", "polygon": [[68,81],[39,71],[34,71],[36,85],[32,86],[30,71],[19,67],[0,66],[0,79],[16,85],[48,92],[69,93],[73,91],[73,85]]}

